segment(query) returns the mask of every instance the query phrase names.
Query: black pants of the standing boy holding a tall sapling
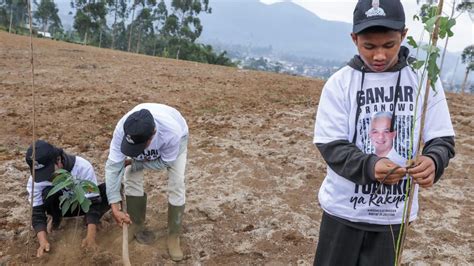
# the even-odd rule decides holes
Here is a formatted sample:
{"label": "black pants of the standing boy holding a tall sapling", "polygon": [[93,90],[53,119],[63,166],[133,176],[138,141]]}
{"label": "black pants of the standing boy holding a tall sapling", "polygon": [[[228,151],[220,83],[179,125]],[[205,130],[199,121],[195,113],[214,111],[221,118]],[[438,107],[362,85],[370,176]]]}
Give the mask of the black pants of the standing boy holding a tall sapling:
{"label": "black pants of the standing boy holding a tall sapling", "polygon": [[[398,232],[393,232],[395,241]],[[314,265],[392,266],[394,262],[392,232],[359,230],[323,213]]]}

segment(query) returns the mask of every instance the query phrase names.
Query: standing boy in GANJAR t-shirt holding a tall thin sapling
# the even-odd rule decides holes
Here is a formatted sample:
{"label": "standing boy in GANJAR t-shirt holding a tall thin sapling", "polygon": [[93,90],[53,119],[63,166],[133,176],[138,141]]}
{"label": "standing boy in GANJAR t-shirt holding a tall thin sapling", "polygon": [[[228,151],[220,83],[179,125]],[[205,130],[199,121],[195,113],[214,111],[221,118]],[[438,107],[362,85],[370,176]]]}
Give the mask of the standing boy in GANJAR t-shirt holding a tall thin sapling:
{"label": "standing boy in GANJAR t-shirt holding a tall thin sapling", "polygon": [[[406,167],[422,145],[417,136],[425,89],[417,87],[409,51],[401,46],[407,33],[403,6],[400,0],[360,0],[353,19],[359,55],[326,82],[316,114],[313,142],[328,168],[319,190],[324,212],[314,264],[393,265],[407,173],[416,183],[413,221],[418,188],[438,181],[454,156],[454,130],[438,80],[437,93],[428,96],[422,156]],[[380,112],[391,114],[393,140],[391,152],[379,156],[371,125]]]}

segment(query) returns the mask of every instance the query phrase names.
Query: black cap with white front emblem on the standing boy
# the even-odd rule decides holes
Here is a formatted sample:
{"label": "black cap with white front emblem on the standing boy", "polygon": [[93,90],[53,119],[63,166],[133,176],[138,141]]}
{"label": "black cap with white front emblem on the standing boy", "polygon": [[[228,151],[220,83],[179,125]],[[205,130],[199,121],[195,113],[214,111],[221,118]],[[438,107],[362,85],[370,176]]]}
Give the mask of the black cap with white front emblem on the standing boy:
{"label": "black cap with white front emblem on the standing boy", "polygon": [[405,11],[400,0],[359,0],[354,9],[353,33],[370,27],[386,27],[392,30],[405,28]]}

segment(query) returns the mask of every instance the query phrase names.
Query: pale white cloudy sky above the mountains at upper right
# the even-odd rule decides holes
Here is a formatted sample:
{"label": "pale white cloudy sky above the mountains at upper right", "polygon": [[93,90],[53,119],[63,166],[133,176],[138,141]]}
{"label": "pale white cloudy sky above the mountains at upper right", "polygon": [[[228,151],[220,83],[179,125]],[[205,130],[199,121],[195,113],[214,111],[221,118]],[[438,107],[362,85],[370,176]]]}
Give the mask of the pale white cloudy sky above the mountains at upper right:
{"label": "pale white cloudy sky above the mountains at upper right", "polygon": [[[260,0],[265,4],[275,2],[293,2],[309,11],[315,13],[322,19],[337,20],[352,23],[352,12],[357,0]],[[460,2],[460,0],[457,0]],[[418,12],[419,7],[416,0],[402,0],[405,7],[408,35],[412,35],[415,40],[420,36],[422,26],[419,21],[412,20],[413,15]],[[445,0],[443,11],[449,16],[451,14],[452,0]],[[454,26],[454,36],[449,39],[448,50],[451,52],[462,51],[466,46],[474,43],[474,24],[468,14],[462,14],[457,19]],[[349,37],[348,37],[349,38]],[[349,40],[349,39],[348,39]],[[441,40],[444,45],[444,40]],[[440,43],[439,43],[440,44]]]}

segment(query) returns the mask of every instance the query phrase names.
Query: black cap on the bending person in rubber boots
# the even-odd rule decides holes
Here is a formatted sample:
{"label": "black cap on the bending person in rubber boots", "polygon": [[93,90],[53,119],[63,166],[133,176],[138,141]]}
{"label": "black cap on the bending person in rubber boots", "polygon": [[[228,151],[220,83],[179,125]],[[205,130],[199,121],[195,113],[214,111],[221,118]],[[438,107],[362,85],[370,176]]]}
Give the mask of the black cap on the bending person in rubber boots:
{"label": "black cap on the bending person in rubber boots", "polygon": [[148,139],[155,132],[155,120],[147,109],[129,115],[123,124],[124,136],[120,150],[123,154],[136,157],[145,150]]}

